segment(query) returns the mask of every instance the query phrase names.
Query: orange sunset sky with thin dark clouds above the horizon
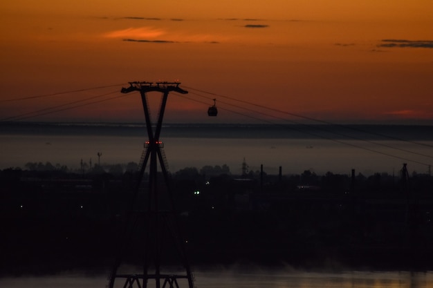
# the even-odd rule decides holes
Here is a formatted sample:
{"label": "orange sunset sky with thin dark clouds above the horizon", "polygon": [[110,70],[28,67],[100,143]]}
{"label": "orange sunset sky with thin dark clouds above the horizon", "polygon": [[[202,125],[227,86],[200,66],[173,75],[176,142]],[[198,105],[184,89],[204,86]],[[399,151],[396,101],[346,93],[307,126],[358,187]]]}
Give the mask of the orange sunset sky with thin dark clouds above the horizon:
{"label": "orange sunset sky with thin dark clouds above the horizon", "polygon": [[142,121],[120,88],[178,80],[190,94],[169,96],[168,122],[433,124],[431,0],[6,0],[0,21],[3,120]]}

